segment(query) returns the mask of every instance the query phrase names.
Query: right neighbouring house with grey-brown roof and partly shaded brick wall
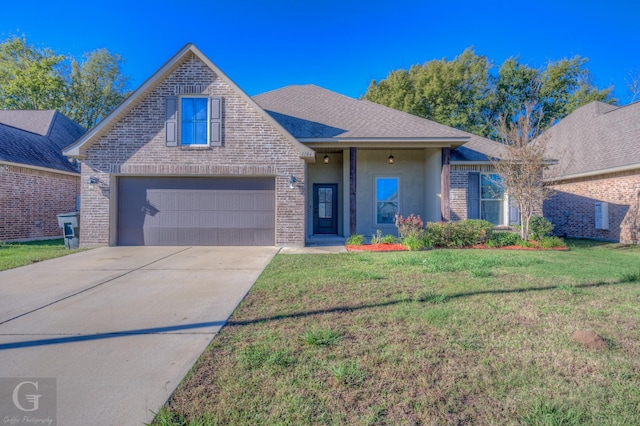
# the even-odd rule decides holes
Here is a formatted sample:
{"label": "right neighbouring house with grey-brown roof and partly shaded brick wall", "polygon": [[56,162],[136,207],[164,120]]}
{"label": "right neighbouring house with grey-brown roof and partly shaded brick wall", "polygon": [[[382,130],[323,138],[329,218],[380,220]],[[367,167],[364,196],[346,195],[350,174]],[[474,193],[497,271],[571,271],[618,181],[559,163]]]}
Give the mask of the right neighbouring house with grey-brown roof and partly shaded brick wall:
{"label": "right neighbouring house with grey-brown roof and partly shaded brick wall", "polygon": [[558,159],[544,215],[558,235],[640,241],[640,103],[592,102],[543,135]]}

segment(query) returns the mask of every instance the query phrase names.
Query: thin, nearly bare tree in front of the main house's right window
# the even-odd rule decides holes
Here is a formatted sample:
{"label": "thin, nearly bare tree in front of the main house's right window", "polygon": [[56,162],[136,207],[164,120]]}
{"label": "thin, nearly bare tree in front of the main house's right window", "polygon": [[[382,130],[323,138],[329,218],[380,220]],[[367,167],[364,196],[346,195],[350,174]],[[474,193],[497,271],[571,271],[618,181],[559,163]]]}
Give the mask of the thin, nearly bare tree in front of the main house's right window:
{"label": "thin, nearly bare tree in front of the main house's right window", "polygon": [[521,111],[510,117],[499,117],[497,131],[503,143],[502,154],[493,160],[505,192],[520,209],[521,237],[529,239],[529,222],[542,213],[544,200],[553,190],[544,185],[543,173],[550,165],[547,140],[540,134],[544,112],[535,102],[526,102]]}

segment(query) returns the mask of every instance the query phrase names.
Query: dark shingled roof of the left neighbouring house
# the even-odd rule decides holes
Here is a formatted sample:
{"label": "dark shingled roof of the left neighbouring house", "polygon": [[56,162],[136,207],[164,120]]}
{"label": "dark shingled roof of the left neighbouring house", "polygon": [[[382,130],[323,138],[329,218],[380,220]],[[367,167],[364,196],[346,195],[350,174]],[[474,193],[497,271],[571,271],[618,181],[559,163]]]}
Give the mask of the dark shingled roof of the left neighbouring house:
{"label": "dark shingled roof of the left neighbouring house", "polygon": [[0,110],[0,161],[77,173],[62,149],[84,132],[55,110]]}

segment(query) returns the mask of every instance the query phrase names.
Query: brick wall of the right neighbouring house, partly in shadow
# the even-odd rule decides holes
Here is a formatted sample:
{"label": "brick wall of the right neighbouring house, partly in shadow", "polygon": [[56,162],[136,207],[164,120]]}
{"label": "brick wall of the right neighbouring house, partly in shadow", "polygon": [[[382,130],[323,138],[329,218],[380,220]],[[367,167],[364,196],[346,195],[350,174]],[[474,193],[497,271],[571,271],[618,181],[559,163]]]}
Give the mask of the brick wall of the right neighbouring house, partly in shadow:
{"label": "brick wall of the right neighbouring house, partly in shadow", "polygon": [[[545,202],[544,215],[555,225],[554,234],[639,243],[640,170],[568,180],[552,188],[556,192]],[[596,201],[609,203],[609,230],[595,229]]]}

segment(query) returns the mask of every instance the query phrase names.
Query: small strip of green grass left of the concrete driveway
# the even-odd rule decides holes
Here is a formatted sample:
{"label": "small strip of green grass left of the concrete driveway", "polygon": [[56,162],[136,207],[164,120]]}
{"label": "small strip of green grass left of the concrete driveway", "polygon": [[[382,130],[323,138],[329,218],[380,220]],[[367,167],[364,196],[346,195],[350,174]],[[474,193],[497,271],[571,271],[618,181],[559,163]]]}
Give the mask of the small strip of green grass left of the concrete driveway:
{"label": "small strip of green grass left of the concrete driveway", "polygon": [[0,243],[0,271],[77,253],[64,248],[62,238],[28,243]]}

